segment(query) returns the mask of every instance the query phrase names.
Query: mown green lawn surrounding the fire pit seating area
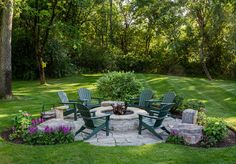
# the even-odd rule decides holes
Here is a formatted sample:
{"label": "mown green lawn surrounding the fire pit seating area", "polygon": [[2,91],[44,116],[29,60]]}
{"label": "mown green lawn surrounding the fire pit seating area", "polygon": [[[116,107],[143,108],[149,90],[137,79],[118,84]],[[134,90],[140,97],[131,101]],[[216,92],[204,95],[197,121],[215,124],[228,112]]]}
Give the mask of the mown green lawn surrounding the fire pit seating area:
{"label": "mown green lawn surrounding the fire pit seating area", "polygon": [[[37,81],[14,81],[13,101],[0,101],[0,131],[12,125],[18,110],[38,116],[42,103],[58,102],[56,92],[64,90],[71,99],[77,89],[94,91],[99,74],[85,74],[62,79],[50,79],[40,86]],[[207,115],[223,117],[236,128],[236,81],[138,74],[156,96],[169,90],[186,99],[206,103]],[[235,163],[236,146],[229,148],[191,148],[172,144],[140,147],[96,147],[83,142],[56,146],[15,145],[0,141],[0,163]]]}

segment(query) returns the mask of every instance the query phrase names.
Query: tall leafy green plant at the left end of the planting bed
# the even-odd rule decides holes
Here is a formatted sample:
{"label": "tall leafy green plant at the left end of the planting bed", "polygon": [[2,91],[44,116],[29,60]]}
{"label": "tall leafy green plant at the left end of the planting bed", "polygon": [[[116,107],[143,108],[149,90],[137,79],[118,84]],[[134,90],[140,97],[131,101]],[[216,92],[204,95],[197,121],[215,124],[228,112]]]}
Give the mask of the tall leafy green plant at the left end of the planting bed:
{"label": "tall leafy green plant at the left end of the planting bed", "polygon": [[10,139],[21,138],[31,125],[32,116],[26,111],[19,111],[14,118],[13,133]]}

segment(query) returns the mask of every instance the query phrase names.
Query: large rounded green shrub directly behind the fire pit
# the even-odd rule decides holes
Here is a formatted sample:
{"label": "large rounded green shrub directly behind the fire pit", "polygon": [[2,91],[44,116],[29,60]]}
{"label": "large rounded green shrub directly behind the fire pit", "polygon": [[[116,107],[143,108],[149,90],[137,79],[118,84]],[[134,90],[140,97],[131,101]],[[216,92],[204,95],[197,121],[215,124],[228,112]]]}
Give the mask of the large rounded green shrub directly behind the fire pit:
{"label": "large rounded green shrub directly behind the fire pit", "polygon": [[105,98],[128,100],[137,96],[142,84],[132,72],[109,72],[97,81],[97,90]]}

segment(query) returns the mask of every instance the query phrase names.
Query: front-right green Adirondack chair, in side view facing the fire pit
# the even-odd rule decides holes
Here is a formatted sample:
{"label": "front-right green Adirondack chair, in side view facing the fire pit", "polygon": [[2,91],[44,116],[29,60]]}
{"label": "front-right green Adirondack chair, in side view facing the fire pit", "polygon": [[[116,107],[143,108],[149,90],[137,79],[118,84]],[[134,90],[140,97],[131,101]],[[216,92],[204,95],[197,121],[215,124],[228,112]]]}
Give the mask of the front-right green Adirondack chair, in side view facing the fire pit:
{"label": "front-right green Adirondack chair, in side view facing the fire pit", "polygon": [[[163,120],[167,117],[169,110],[174,106],[174,103],[163,105],[160,112],[151,111],[152,115],[139,114],[138,133],[141,135],[142,130],[147,129],[156,137],[163,139],[155,129],[160,128],[169,134],[169,131],[162,125]],[[144,129],[142,129],[144,127]]]}

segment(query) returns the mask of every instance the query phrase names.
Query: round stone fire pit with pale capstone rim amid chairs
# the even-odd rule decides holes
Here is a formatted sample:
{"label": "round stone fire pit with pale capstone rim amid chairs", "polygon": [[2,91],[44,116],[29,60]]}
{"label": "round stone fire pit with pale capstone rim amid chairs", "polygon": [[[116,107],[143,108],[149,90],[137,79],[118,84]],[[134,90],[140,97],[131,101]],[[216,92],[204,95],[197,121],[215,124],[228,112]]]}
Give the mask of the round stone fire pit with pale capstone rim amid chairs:
{"label": "round stone fire pit with pale capstone rim amid chairs", "polygon": [[110,113],[110,129],[113,131],[130,131],[137,130],[138,128],[138,114],[147,114],[145,110],[128,107],[126,115],[115,115],[112,112],[112,107],[98,107],[94,108],[91,111],[96,111],[96,116],[102,116],[105,113]]}

